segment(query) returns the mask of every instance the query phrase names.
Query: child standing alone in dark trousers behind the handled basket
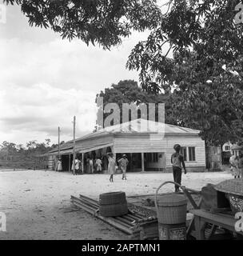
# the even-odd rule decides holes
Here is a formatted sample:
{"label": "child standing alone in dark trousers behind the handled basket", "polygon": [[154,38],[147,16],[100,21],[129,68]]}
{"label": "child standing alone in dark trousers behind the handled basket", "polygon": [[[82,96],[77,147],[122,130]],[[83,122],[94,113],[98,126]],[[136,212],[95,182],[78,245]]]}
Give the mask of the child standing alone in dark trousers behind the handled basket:
{"label": "child standing alone in dark trousers behind the handled basket", "polygon": [[[173,166],[173,180],[174,182],[177,182],[178,184],[181,185],[181,170],[183,166],[183,169],[185,170],[185,162],[183,155],[180,154],[181,146],[179,144],[176,144],[173,146],[173,149],[176,151],[171,155],[171,163]],[[185,170],[186,174],[186,170]],[[175,192],[180,192],[179,186],[175,184]]]}

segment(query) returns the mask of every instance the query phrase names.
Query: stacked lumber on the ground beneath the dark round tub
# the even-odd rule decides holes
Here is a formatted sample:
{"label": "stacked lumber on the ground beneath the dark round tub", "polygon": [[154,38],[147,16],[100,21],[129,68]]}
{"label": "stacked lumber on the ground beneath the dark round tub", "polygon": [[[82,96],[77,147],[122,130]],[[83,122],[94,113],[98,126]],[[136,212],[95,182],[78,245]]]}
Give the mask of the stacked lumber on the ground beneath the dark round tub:
{"label": "stacked lumber on the ground beneath the dark round tub", "polygon": [[[120,217],[104,217],[99,214],[98,201],[92,198],[88,198],[82,194],[79,195],[79,198],[72,195],[71,202],[74,204],[74,206],[77,206],[82,210],[86,210],[86,212],[94,215],[96,218],[99,218],[103,222],[109,223],[111,226],[114,226],[118,230],[128,234],[129,238],[147,238],[147,235],[145,234],[145,228],[143,228],[141,224],[145,225],[146,227],[150,224],[152,224],[152,226],[157,226],[157,218],[154,218],[153,216],[145,216],[144,214],[140,214],[134,210],[129,210],[128,214],[122,215]],[[151,233],[150,229],[148,230]]]}

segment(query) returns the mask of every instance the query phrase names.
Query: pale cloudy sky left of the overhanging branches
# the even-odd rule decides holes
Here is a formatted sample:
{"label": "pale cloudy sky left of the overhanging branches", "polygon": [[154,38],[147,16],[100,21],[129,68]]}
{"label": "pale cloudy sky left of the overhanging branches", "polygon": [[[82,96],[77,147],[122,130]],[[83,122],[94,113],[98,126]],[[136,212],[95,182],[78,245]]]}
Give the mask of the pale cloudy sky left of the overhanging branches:
{"label": "pale cloudy sky left of the overhanging branches", "polygon": [[96,94],[120,80],[138,82],[125,63],[147,35],[133,33],[121,46],[103,50],[30,27],[19,6],[7,6],[6,22],[0,22],[0,143],[57,143],[58,126],[61,140],[70,140],[74,115],[77,137],[92,132]]}

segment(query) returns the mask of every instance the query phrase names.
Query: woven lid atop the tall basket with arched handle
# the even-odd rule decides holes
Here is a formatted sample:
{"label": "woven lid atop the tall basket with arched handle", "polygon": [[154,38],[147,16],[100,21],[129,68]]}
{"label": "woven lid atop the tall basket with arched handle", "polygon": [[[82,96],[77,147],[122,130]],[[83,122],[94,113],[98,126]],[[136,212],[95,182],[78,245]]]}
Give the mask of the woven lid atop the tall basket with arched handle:
{"label": "woven lid atop the tall basket with arched handle", "polygon": [[158,206],[182,206],[187,204],[185,196],[181,194],[164,194],[157,196]]}

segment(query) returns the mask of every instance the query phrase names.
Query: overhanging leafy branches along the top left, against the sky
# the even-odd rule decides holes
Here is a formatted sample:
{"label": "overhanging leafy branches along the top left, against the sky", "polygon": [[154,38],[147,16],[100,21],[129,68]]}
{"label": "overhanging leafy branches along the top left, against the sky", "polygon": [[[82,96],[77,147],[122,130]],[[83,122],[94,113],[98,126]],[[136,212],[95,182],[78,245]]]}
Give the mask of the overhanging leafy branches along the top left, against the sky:
{"label": "overhanging leafy branches along the top left, against the sky", "polygon": [[156,0],[4,0],[21,6],[30,26],[50,28],[62,38],[79,38],[110,48],[131,30],[153,29],[161,17]]}

